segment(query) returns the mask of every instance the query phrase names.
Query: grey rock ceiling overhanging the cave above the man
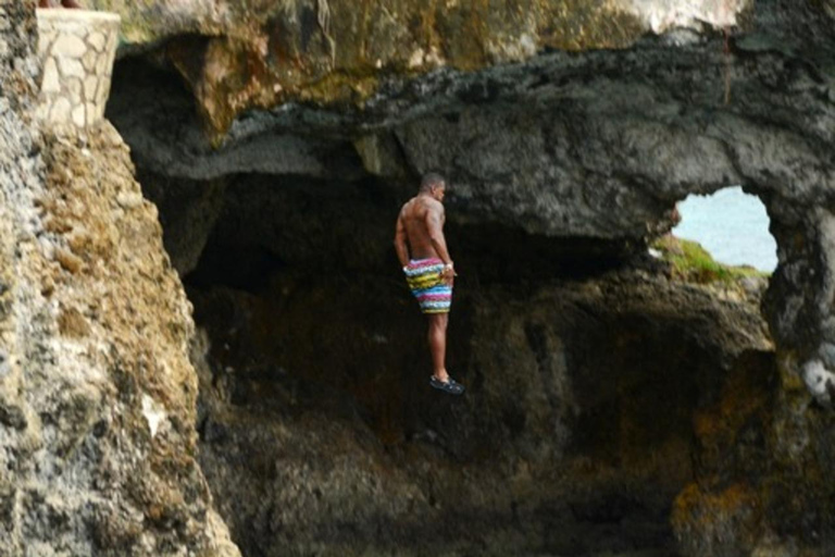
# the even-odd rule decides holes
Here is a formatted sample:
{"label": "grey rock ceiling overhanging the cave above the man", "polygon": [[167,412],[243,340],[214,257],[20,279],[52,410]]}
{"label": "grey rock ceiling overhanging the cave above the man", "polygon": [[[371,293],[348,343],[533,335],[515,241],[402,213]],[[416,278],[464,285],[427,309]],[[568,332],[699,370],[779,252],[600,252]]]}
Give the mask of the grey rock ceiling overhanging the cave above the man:
{"label": "grey rock ceiling overhanging the cave above the man", "polygon": [[[202,134],[194,88],[148,64],[125,64],[110,110],[137,162],[162,175],[353,180],[439,170],[470,220],[640,243],[669,228],[673,205],[690,193],[741,183],[790,203],[827,195],[827,156],[812,147],[832,140],[827,97],[775,50],[808,20],[823,55],[820,15],[761,8],[750,15],[759,27],[727,55],[719,40],[665,37],[478,72],[390,74],[360,109],[284,103],[248,113],[220,149]],[[389,168],[377,169],[369,146],[385,146]]]}

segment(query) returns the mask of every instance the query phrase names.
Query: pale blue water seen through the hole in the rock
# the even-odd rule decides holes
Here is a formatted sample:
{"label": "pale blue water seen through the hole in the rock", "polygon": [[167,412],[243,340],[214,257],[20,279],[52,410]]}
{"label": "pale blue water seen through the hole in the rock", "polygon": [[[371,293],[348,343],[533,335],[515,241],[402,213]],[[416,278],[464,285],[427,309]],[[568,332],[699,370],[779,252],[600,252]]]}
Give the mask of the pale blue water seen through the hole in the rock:
{"label": "pale blue water seen through the hole in the rock", "polygon": [[689,196],[678,203],[678,212],[682,222],[673,234],[698,242],[716,261],[765,272],[777,267],[777,244],[757,196],[728,187],[712,196]]}

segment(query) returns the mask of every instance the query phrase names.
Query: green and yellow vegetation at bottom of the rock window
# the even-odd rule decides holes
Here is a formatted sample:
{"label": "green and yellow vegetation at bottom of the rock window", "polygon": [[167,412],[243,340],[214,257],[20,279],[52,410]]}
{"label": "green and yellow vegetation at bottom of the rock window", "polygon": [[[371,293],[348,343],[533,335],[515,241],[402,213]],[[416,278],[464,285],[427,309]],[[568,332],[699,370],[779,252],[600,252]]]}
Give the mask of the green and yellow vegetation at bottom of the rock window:
{"label": "green and yellow vegetation at bottom of the rock window", "polygon": [[732,267],[718,263],[698,243],[676,238],[668,234],[658,238],[650,246],[661,252],[661,258],[670,263],[674,278],[699,284],[714,282],[735,283],[746,276],[768,277],[769,273],[748,265]]}

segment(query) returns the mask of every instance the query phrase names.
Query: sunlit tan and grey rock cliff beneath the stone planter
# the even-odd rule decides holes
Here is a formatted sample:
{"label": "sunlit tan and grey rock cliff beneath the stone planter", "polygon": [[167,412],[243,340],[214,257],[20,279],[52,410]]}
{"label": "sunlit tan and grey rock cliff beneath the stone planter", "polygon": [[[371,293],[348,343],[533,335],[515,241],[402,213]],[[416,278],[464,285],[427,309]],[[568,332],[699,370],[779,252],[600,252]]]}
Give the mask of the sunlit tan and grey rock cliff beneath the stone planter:
{"label": "sunlit tan and grey rock cliff beneath the stone planter", "polygon": [[190,306],[109,124],[33,117],[34,2],[0,2],[0,554],[238,556],[196,461]]}

